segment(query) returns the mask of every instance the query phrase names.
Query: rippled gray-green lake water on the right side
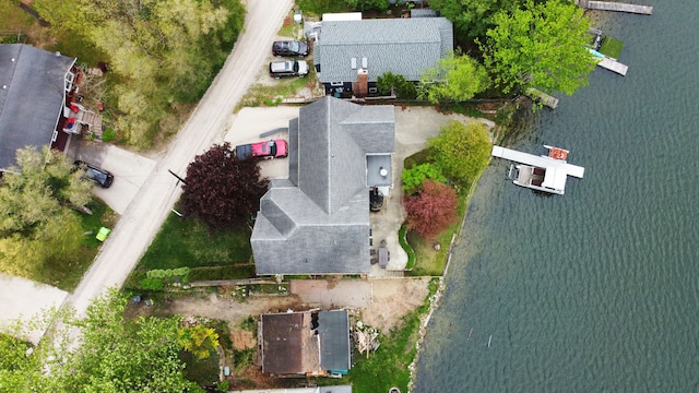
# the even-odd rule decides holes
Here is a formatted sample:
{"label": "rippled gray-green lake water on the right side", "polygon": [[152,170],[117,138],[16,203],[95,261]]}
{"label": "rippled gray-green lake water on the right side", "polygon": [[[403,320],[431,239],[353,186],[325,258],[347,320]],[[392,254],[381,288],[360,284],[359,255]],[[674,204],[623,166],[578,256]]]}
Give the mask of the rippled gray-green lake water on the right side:
{"label": "rippled gray-green lake water on the right side", "polygon": [[479,181],[416,392],[699,391],[699,3],[635,2],[653,15],[593,15],[627,76],[594,70],[509,144],[584,179],[534,194],[496,158]]}

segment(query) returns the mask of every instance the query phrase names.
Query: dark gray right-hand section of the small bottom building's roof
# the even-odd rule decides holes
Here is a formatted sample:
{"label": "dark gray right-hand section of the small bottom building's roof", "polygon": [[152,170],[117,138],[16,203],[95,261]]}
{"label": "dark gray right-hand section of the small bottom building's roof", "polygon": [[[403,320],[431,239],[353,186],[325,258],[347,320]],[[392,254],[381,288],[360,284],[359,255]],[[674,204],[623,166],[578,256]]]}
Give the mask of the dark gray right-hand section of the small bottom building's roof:
{"label": "dark gray right-hand section of the small bottom building's roof", "polygon": [[320,368],[329,372],[346,373],[352,367],[347,311],[319,312],[318,335],[320,335]]}

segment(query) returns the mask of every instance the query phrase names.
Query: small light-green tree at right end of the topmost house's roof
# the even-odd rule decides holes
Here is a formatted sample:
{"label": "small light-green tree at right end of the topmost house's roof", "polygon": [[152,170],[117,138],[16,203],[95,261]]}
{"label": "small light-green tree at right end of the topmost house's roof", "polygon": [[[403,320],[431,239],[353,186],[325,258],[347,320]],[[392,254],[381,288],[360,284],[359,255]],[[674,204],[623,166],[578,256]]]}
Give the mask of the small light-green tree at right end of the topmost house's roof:
{"label": "small light-green tree at right end of the topmost house's roof", "polygon": [[463,102],[484,92],[489,84],[488,72],[476,60],[457,52],[423,73],[419,97],[433,104],[442,99]]}

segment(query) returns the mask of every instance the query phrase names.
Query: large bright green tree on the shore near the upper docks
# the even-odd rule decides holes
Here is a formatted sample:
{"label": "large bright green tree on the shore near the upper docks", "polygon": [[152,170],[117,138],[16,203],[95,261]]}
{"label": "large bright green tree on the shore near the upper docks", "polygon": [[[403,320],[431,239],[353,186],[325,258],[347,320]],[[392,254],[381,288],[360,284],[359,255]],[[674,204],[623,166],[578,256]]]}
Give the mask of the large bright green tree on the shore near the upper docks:
{"label": "large bright green tree on the shore near the upper docks", "polygon": [[585,49],[590,21],[579,7],[529,0],[524,9],[498,12],[495,23],[478,45],[502,92],[536,87],[571,95],[588,84],[595,60]]}

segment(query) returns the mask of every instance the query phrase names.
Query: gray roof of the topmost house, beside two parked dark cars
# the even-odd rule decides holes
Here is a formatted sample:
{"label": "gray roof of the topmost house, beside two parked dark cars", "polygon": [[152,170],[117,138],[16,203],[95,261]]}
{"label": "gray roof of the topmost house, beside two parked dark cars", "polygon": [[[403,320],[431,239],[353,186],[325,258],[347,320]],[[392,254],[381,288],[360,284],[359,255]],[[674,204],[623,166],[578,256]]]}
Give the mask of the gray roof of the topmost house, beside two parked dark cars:
{"label": "gray roof of the topmost house, beside two parked dark cars", "polygon": [[419,81],[453,50],[453,40],[445,17],[329,21],[321,24],[313,63],[321,83],[356,81],[360,68],[369,71],[369,82],[389,71]]}

